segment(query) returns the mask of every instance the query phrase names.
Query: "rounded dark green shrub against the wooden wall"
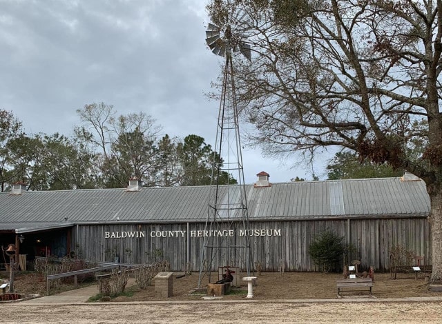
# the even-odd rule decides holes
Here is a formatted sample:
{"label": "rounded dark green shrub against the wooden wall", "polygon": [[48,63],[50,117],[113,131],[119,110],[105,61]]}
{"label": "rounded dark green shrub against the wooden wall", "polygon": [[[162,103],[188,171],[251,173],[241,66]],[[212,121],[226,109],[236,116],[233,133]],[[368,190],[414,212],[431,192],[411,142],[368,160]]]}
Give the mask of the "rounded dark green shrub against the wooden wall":
{"label": "rounded dark green shrub against the wooden wall", "polygon": [[336,270],[345,253],[349,251],[349,245],[344,243],[344,237],[334,232],[325,231],[314,238],[309,245],[309,254],[313,262],[323,273]]}

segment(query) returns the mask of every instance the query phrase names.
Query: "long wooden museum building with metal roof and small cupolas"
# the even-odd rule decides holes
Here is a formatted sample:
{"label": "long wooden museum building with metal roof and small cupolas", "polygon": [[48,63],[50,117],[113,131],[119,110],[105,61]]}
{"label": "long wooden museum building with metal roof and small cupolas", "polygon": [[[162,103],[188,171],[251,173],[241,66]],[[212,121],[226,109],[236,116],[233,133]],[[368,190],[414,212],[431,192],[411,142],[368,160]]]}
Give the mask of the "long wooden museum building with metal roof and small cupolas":
{"label": "long wooden museum building with metal roof and small cupolas", "polygon": [[[289,183],[257,176],[245,185],[249,229],[238,221],[218,233],[205,232],[209,186],[143,188],[132,179],[122,189],[29,192],[17,183],[0,194],[0,243],[15,243],[28,261],[74,254],[137,264],[166,259],[173,271],[198,271],[204,235],[235,236],[238,243],[249,236],[262,270],[314,271],[309,244],[332,230],[356,247],[352,259],[362,267],[388,270],[394,245],[425,256],[425,264],[431,260],[430,199],[413,174]],[[244,268],[238,260],[233,266]],[[0,263],[7,263],[4,253]]]}

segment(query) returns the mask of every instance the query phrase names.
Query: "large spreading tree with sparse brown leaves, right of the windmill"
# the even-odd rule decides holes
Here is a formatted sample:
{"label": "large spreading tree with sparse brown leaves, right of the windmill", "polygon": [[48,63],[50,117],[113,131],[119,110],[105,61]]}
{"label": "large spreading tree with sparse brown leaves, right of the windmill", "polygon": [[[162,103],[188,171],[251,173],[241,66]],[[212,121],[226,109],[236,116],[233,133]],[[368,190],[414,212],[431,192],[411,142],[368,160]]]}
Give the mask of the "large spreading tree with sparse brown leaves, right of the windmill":
{"label": "large spreading tree with sparse brown leaves, right of the windmill", "polygon": [[[442,1],[214,0],[214,21],[226,2],[251,27],[251,63],[236,64],[251,143],[278,156],[337,146],[419,176],[431,201],[431,281],[441,281]],[[412,141],[424,148],[417,159],[406,154]]]}

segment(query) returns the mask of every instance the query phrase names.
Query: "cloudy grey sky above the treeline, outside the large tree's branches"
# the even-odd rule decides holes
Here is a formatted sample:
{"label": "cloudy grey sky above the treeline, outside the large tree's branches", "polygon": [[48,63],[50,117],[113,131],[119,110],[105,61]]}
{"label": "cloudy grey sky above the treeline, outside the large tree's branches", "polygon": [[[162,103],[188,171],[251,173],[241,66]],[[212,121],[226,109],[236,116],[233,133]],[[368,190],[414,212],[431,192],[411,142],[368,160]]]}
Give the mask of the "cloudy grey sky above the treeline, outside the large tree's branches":
{"label": "cloudy grey sky above the treeline, outside the large tree's branches", "polygon": [[[0,0],[0,109],[28,134],[70,136],[75,110],[104,102],[118,114],[151,115],[162,134],[197,134],[214,147],[219,104],[204,94],[222,58],[206,48],[206,2]],[[260,171],[271,182],[311,179],[294,161],[247,147],[242,155],[245,183]],[[323,178],[323,165],[315,172]]]}

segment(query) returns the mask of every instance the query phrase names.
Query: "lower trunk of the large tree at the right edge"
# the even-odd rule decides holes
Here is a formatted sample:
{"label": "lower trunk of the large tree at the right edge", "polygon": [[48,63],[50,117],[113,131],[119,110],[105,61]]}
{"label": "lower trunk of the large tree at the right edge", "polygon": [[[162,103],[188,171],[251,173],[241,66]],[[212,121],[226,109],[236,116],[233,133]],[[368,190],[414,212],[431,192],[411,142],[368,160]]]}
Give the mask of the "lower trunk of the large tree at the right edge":
{"label": "lower trunk of the large tree at the right edge", "polygon": [[432,235],[432,276],[430,282],[442,282],[442,190],[430,192],[431,235]]}

